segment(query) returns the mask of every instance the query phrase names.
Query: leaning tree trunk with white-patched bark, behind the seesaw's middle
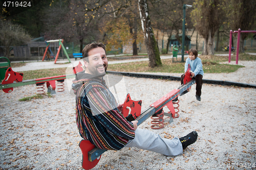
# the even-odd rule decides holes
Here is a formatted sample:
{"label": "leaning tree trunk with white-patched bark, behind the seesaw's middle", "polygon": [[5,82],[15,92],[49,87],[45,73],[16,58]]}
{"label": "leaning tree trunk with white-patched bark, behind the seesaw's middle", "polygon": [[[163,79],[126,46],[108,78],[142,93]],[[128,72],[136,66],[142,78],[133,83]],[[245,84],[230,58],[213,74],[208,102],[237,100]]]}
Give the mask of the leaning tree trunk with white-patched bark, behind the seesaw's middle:
{"label": "leaning tree trunk with white-patched bark, behind the seesaw's middle", "polygon": [[148,13],[146,0],[139,0],[139,11],[140,11],[141,27],[144,34],[147,55],[148,55],[148,59],[150,60],[148,66],[154,68],[155,66],[159,66],[162,63],[160,59],[159,50],[157,47],[157,42],[154,36],[154,32],[151,27],[151,20],[150,20],[150,15]]}

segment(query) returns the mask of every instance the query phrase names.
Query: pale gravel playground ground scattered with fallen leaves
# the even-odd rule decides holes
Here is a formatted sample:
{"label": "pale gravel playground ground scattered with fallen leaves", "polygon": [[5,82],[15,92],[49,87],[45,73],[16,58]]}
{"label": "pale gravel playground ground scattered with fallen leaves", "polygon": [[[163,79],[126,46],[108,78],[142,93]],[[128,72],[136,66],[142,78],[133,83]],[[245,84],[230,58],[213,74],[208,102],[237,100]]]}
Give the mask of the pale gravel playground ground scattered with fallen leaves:
{"label": "pale gravel playground ground scattered with fallen leaves", "polygon": [[[239,64],[245,67],[230,74],[205,74],[203,79],[256,84],[255,61]],[[0,92],[0,169],[82,169],[75,96],[68,92],[69,81],[65,81],[65,91],[52,98],[28,102],[18,99],[34,95],[35,85]],[[133,77],[123,77],[123,81],[131,98],[142,100],[142,110],[180,86],[177,81]],[[120,93],[126,93],[123,87]],[[203,84],[199,102],[195,88],[193,85],[179,99],[180,116],[173,123],[169,124],[165,116],[163,129],[151,129],[150,118],[139,126],[165,138],[182,137],[196,130],[197,142],[183,154],[173,157],[123,148],[103,153],[93,169],[255,169],[256,90]],[[119,100],[123,101],[121,97]]]}

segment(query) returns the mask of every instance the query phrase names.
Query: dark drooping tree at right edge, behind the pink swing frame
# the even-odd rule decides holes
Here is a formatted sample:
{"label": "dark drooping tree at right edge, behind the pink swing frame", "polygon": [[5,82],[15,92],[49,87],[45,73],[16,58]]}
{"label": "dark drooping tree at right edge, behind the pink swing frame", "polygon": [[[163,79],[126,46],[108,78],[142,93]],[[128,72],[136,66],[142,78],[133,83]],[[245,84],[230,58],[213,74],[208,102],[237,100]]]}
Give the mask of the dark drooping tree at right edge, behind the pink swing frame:
{"label": "dark drooping tree at right edge, behind the pink swing frame", "polygon": [[[250,31],[256,20],[256,2],[253,0],[232,0],[231,28],[232,30]],[[244,40],[248,33],[241,33],[239,53],[244,53]]]}

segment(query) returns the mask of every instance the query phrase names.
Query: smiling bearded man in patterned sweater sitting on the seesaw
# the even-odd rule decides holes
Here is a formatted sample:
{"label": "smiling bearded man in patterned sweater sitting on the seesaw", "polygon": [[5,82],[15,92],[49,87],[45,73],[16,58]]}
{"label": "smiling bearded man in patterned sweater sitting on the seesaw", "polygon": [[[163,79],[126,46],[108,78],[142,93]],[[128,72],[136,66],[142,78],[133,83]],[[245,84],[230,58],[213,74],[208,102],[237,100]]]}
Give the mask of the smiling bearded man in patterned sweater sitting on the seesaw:
{"label": "smiling bearded man in patterned sweater sitting on the seesaw", "polygon": [[72,84],[76,94],[76,123],[82,138],[100,149],[137,147],[167,156],[181,154],[197,140],[196,131],[170,140],[137,128],[137,120],[127,121],[120,112],[123,105],[117,104],[102,78],[108,68],[104,44],[88,44],[82,56],[86,70],[79,72]]}

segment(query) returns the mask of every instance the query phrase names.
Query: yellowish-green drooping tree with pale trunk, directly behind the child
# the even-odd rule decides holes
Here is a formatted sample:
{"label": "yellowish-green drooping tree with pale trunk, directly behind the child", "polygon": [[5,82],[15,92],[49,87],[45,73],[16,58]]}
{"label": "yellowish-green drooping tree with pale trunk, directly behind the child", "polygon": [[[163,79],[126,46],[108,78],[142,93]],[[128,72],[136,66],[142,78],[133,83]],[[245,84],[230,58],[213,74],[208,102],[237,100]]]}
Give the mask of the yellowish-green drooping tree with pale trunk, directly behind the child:
{"label": "yellowish-green drooping tree with pale trunk, directly behind the child", "polygon": [[204,37],[202,55],[214,55],[214,35],[223,22],[226,6],[221,0],[196,0],[191,18],[199,34]]}

